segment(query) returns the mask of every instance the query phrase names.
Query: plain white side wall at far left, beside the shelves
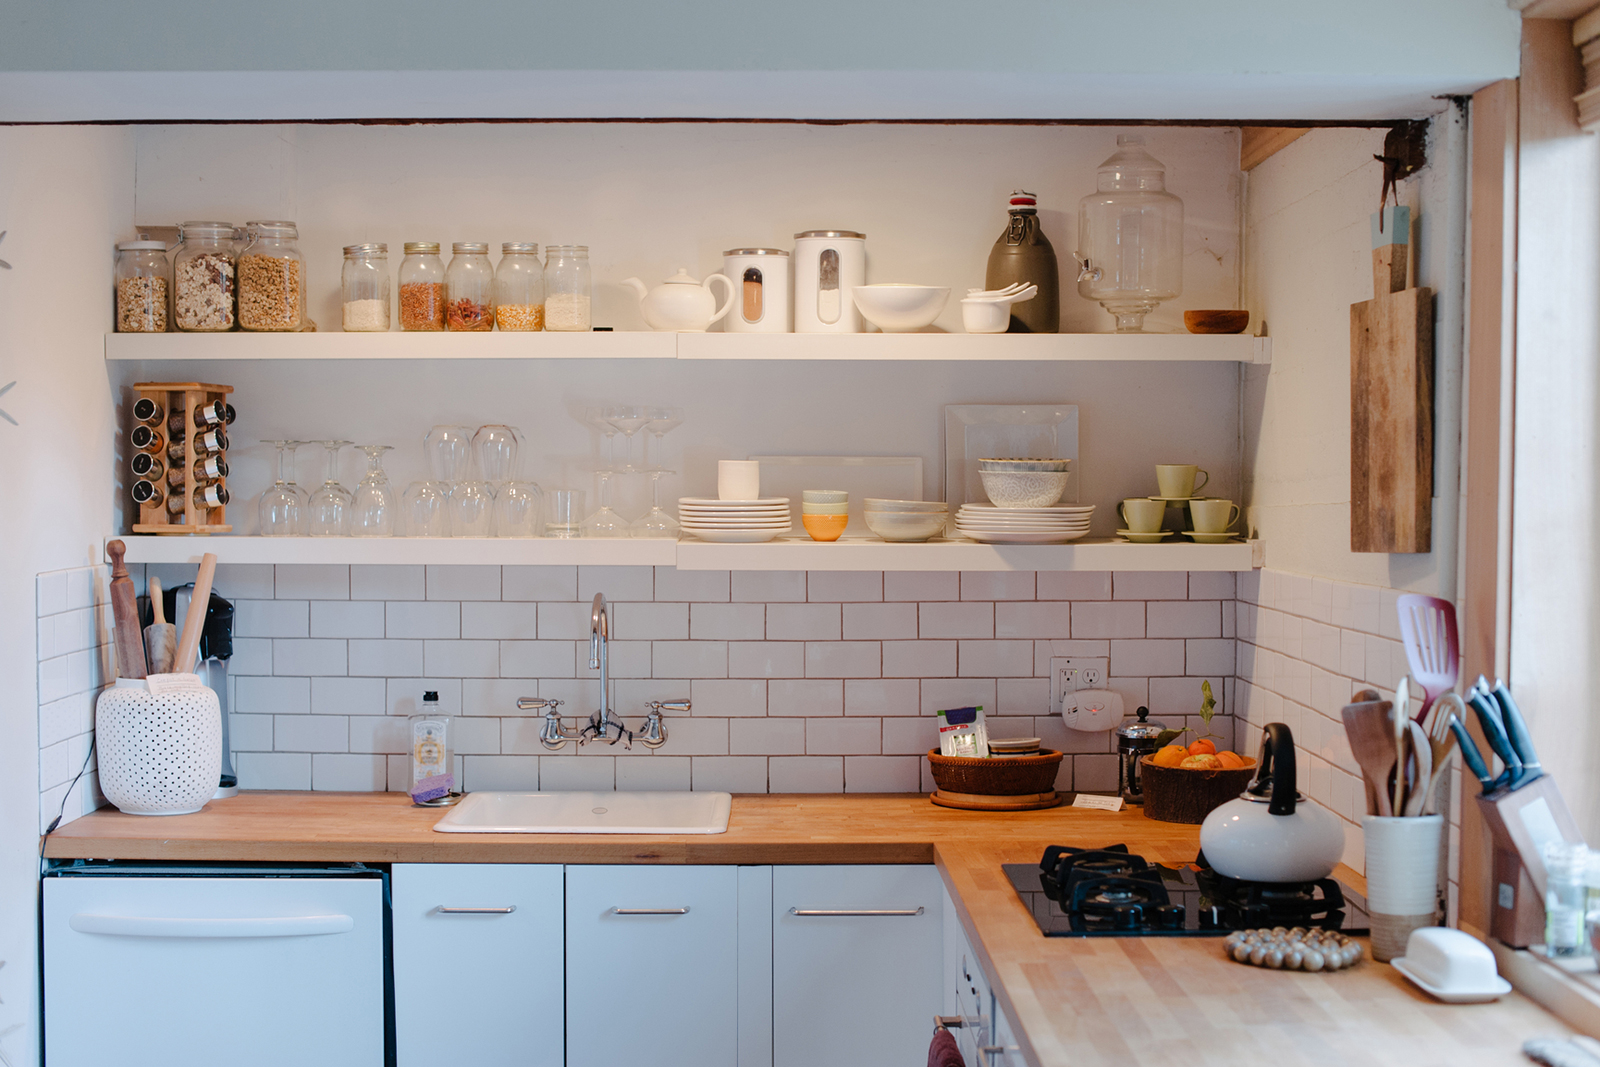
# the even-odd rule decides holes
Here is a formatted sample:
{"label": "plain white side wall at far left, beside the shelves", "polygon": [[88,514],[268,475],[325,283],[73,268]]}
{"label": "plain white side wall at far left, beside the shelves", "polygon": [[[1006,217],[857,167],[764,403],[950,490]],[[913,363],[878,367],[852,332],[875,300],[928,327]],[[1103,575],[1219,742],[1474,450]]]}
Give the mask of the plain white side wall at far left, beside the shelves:
{"label": "plain white side wall at far left, beside the shelves", "polygon": [[115,405],[102,334],[107,251],[133,222],[133,133],[0,130],[0,1049],[35,1062],[38,720],[35,574],[99,563],[112,515]]}

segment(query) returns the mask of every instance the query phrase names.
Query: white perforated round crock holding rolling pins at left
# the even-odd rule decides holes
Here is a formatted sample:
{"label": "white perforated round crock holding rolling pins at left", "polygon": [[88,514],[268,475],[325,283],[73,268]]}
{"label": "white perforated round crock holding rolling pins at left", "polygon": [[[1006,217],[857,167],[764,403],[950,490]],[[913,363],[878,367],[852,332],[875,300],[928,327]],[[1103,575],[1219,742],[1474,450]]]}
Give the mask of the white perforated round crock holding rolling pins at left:
{"label": "white perforated round crock holding rolling pins at left", "polygon": [[118,809],[190,814],[222,776],[222,707],[202,685],[150,693],[142,678],[117,678],[94,702],[94,747],[101,792]]}

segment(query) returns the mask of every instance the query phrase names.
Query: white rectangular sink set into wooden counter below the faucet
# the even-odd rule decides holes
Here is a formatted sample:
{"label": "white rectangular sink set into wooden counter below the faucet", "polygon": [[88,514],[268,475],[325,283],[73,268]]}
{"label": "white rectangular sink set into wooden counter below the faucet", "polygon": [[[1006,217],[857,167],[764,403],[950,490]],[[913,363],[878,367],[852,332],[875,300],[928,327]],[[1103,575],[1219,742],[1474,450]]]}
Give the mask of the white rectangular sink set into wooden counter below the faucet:
{"label": "white rectangular sink set into wooden counter below the faucet", "polygon": [[467,793],[440,833],[726,833],[731,793]]}

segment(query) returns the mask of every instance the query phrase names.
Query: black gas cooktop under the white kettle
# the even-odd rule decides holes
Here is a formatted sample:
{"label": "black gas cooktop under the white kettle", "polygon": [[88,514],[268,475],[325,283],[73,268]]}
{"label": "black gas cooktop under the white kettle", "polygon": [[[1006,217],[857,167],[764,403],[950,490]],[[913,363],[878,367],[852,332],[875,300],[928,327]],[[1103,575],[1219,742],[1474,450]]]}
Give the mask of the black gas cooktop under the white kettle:
{"label": "black gas cooktop under the white kettle", "polygon": [[1258,926],[1366,933],[1366,901],[1333,878],[1294,885],[1152,864],[1126,845],[1051,845],[1037,864],[1002,864],[1046,937],[1216,937]]}

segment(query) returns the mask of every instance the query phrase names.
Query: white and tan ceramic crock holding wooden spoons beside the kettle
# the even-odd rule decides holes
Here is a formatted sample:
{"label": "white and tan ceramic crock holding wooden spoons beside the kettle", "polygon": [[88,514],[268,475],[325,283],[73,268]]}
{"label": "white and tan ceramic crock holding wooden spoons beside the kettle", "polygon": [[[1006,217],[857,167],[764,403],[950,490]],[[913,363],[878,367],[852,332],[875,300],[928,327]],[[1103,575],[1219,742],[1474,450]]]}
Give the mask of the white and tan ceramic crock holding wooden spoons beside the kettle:
{"label": "white and tan ceramic crock holding wooden spoons beside the kettle", "polygon": [[1373,920],[1373,958],[1405,955],[1413,929],[1438,925],[1438,870],[1445,816],[1365,816],[1366,913]]}

